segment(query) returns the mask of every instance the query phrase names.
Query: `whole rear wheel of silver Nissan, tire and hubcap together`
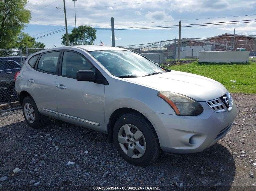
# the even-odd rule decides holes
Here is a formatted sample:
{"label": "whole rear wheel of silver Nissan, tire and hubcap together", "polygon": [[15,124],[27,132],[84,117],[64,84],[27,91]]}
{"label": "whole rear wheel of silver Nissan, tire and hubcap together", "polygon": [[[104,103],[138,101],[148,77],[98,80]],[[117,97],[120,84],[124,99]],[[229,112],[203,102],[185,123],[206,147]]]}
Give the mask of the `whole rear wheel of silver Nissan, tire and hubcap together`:
{"label": "whole rear wheel of silver Nissan, tire and hubcap together", "polygon": [[22,101],[22,111],[28,126],[39,129],[46,122],[46,116],[39,113],[35,101],[31,96],[25,97]]}

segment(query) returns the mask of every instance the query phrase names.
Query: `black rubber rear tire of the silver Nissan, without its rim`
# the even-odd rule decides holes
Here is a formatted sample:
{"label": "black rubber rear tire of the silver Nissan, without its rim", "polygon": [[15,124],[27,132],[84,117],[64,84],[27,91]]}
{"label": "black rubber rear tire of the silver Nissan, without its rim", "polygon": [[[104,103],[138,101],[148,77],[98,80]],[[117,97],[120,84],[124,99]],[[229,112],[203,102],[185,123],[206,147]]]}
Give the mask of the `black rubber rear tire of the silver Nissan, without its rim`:
{"label": "black rubber rear tire of the silver Nissan, without its rim", "polygon": [[[30,123],[26,116],[25,116],[25,104],[29,103],[34,110],[34,122]],[[47,117],[45,115],[42,115],[41,113],[39,113],[37,106],[35,104],[35,101],[33,100],[33,98],[31,96],[25,97],[24,100],[22,101],[22,111],[23,111],[23,116],[25,118],[25,121],[27,122],[28,126],[32,127],[33,129],[39,129],[42,128],[45,125],[46,119]]]}

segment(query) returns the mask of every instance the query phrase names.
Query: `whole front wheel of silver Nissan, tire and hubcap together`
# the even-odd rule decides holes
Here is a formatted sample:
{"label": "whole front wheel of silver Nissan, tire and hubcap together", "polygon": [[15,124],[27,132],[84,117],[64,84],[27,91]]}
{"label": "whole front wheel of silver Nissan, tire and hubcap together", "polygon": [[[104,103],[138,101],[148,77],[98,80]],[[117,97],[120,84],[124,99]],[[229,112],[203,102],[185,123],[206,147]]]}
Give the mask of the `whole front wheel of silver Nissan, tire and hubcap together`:
{"label": "whole front wheel of silver Nissan, tire and hubcap together", "polygon": [[113,139],[121,157],[137,166],[152,163],[161,151],[154,127],[142,114],[121,116],[115,123]]}

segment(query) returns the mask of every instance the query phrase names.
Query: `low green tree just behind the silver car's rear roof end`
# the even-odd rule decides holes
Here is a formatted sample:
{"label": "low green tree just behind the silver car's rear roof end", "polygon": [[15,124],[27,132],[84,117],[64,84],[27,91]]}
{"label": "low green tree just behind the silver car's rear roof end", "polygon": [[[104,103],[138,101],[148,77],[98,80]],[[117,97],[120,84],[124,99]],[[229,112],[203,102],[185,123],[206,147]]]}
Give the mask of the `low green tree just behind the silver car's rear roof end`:
{"label": "low green tree just behind the silver car's rear roof end", "polygon": [[44,43],[36,42],[35,38],[29,36],[29,34],[24,32],[18,35],[18,39],[15,44],[15,48],[22,49],[23,54],[26,53],[26,46],[28,48],[45,48]]}

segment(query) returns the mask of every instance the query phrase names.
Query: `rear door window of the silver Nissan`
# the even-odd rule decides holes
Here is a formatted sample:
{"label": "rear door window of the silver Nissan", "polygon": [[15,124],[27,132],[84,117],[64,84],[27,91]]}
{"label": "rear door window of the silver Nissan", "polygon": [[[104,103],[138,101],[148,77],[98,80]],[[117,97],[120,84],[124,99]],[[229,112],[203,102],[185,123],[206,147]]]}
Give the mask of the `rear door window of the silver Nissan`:
{"label": "rear door window of the silver Nissan", "polygon": [[59,54],[60,51],[42,54],[38,61],[37,70],[40,72],[56,74]]}

